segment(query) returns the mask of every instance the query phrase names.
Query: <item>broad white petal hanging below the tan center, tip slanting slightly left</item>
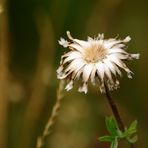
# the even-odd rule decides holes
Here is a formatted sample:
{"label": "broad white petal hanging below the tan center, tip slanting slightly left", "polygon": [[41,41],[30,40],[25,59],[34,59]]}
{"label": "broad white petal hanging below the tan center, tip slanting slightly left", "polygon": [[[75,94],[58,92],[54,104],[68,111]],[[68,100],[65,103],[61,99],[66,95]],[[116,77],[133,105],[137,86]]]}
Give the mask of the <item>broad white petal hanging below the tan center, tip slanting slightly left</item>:
{"label": "broad white petal hanging below the tan center, tip slanting slightly left", "polygon": [[87,82],[89,77],[90,77],[90,74],[92,72],[92,69],[94,67],[94,64],[93,63],[90,63],[90,64],[86,64],[84,69],[83,69],[83,80],[84,82]]}

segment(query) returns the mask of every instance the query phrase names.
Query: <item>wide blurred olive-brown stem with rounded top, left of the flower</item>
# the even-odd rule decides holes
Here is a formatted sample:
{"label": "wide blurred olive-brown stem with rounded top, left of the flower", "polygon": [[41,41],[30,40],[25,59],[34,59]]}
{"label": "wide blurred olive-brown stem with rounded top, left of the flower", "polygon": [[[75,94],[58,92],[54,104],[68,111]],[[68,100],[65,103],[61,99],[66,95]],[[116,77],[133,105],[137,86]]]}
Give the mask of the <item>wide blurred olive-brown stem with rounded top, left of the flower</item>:
{"label": "wide blurred olive-brown stem with rounded top, left of the flower", "polygon": [[37,9],[34,14],[39,34],[39,51],[36,72],[31,81],[31,95],[23,119],[22,136],[19,143],[21,148],[31,147],[33,133],[45,107],[45,93],[47,87],[50,86],[50,78],[53,73],[54,32],[52,22],[42,9]]}

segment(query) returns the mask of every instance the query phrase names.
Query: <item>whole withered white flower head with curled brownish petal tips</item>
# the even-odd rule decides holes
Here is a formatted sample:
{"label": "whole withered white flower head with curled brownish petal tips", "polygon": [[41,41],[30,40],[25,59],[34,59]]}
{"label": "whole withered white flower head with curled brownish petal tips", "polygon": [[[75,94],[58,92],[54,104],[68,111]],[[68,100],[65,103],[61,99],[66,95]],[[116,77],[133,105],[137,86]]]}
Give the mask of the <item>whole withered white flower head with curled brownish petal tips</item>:
{"label": "whole withered white flower head with curled brownish petal tips", "polygon": [[57,70],[58,79],[68,80],[66,90],[73,88],[75,80],[81,80],[80,92],[87,93],[87,85],[90,80],[92,84],[99,84],[101,92],[105,92],[105,85],[111,91],[119,87],[118,76],[121,69],[132,78],[132,71],[124,61],[139,59],[139,54],[127,53],[124,48],[131,40],[127,36],[124,40],[115,38],[104,39],[103,34],[96,38],[88,37],[87,41],[74,39],[67,31],[70,41],[61,38],[59,44],[68,47],[69,52],[61,57],[60,67]]}

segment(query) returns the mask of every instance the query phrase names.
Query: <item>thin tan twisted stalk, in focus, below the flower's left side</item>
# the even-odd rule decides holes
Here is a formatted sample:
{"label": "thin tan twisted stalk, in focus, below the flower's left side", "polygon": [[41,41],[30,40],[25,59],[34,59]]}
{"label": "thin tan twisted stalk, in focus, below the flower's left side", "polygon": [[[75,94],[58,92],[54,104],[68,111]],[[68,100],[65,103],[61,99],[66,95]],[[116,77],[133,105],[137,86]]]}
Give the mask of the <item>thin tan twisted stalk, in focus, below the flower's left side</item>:
{"label": "thin tan twisted stalk, in focus, below the flower's left side", "polygon": [[56,122],[57,116],[59,115],[59,110],[60,110],[60,107],[61,107],[61,101],[62,101],[62,98],[63,98],[63,93],[62,93],[63,85],[64,85],[63,83],[64,83],[63,81],[60,81],[60,83],[59,83],[59,88],[57,90],[56,103],[53,106],[51,116],[49,117],[47,124],[45,125],[45,128],[44,128],[42,135],[40,137],[38,137],[38,139],[37,139],[36,148],[42,148],[45,145],[46,139],[50,135],[51,129]]}

